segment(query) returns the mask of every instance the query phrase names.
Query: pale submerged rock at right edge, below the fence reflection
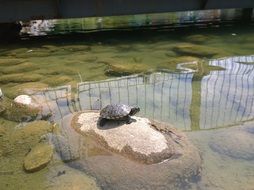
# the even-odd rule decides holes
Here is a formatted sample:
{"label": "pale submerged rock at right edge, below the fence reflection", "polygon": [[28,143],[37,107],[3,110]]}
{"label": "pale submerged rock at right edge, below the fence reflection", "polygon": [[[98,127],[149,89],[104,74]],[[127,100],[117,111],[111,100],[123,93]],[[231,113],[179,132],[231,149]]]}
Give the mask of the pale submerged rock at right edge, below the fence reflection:
{"label": "pale submerged rock at right edge, below the fence reflection", "polygon": [[[235,159],[254,160],[253,127],[219,131],[209,143],[210,148]],[[254,131],[254,130],[253,130]]]}

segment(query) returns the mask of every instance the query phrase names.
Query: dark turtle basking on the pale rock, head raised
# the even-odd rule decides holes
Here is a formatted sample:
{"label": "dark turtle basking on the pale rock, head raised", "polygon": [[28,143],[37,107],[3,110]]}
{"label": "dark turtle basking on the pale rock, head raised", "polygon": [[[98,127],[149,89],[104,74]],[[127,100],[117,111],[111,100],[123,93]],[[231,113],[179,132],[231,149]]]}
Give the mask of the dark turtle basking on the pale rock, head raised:
{"label": "dark turtle basking on the pale rock, head raised", "polygon": [[132,122],[131,117],[140,111],[139,107],[125,104],[110,104],[100,111],[99,126],[103,127],[108,120]]}

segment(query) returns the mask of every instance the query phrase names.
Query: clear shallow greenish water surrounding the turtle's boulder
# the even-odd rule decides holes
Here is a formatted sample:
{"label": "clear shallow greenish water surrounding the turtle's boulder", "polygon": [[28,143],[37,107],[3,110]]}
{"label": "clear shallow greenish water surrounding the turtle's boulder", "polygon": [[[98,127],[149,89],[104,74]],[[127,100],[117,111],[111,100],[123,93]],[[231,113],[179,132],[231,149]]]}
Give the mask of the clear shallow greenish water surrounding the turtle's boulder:
{"label": "clear shallow greenish water surrounding the turtle's boulder", "polygon": [[[140,116],[186,131],[198,147],[203,160],[200,176],[187,181],[179,178],[175,189],[251,190],[254,156],[245,140],[253,144],[253,28],[181,31],[181,35],[139,31],[128,38],[126,34],[89,34],[79,36],[81,40],[39,38],[1,47],[0,84],[5,96],[31,93],[43,103],[45,112],[53,113],[51,121],[59,123],[62,135],[79,154],[79,159],[68,163],[56,156],[47,168],[28,174],[22,169],[27,152],[17,155],[10,150],[1,156],[1,187],[54,189],[66,183],[79,189],[80,181],[72,184],[70,173],[81,181],[84,174],[92,176],[102,189],[167,189],[169,184],[152,180],[149,186],[147,179],[120,179],[114,170],[121,165],[131,175],[133,163],[69,128],[74,112],[126,103],[140,106]],[[15,133],[17,125],[0,119],[6,135]],[[240,150],[235,149],[234,139]],[[226,149],[221,148],[224,145]],[[101,169],[95,171],[95,167]]]}

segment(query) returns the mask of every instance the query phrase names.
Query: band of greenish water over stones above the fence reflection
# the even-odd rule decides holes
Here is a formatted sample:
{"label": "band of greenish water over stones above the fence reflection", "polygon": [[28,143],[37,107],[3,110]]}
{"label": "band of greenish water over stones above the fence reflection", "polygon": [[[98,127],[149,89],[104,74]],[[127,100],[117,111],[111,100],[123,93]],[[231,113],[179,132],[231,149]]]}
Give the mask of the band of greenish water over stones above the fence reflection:
{"label": "band of greenish water over stones above the fence reflection", "polygon": [[[9,50],[0,56],[0,83],[5,86],[47,81],[56,86],[80,82],[80,76],[82,81],[102,80],[159,69],[175,70],[179,62],[190,60],[250,55],[254,44],[251,31],[251,27],[199,29],[179,34],[112,31],[94,36],[84,34],[79,39],[74,36],[63,40],[25,41],[26,48],[22,43],[4,48]],[[71,79],[59,80],[67,77]],[[54,80],[56,82],[51,84]]]}

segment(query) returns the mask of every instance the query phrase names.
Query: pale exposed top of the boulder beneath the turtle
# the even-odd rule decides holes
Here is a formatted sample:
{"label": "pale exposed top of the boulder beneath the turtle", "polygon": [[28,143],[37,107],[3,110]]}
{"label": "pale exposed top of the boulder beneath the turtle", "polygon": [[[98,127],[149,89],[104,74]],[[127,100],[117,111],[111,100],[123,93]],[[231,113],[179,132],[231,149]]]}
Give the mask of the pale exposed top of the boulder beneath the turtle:
{"label": "pale exposed top of the boulder beneath the turtle", "polygon": [[105,148],[146,164],[162,162],[183,154],[179,144],[181,138],[184,139],[182,133],[169,129],[168,135],[165,135],[147,118],[132,118],[135,121],[131,124],[110,121],[102,128],[97,124],[98,112],[83,112],[74,117],[72,126]]}

